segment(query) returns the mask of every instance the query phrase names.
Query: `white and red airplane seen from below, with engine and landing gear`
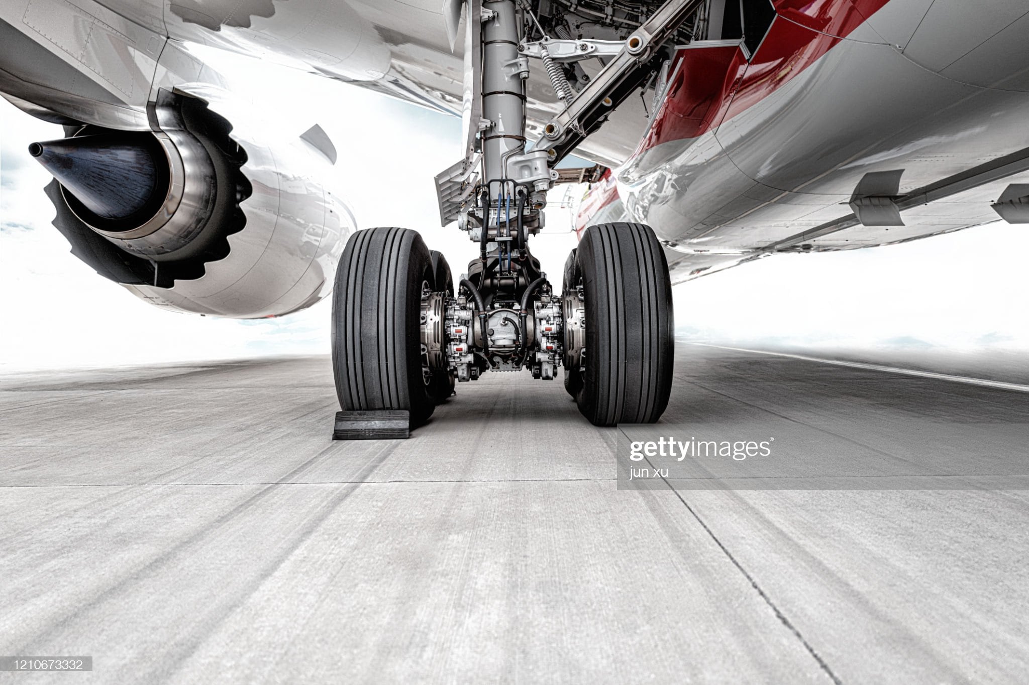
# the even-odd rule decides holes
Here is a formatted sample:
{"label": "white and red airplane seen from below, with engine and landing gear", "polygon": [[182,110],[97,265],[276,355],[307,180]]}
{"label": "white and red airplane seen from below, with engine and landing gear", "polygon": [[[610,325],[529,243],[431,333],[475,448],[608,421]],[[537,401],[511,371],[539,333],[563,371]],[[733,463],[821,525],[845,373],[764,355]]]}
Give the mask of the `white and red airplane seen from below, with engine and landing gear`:
{"label": "white and red airplane seen from below, with engine and landing gear", "polygon": [[[356,230],[325,132],[252,130],[196,46],[460,116],[434,182],[466,274]],[[456,382],[559,368],[593,423],[654,422],[673,283],[1029,223],[1025,0],[2,0],[0,93],[65,127],[29,152],[75,256],[186,312],[331,292],[342,409],[412,426]],[[583,181],[558,293],[529,242]]]}

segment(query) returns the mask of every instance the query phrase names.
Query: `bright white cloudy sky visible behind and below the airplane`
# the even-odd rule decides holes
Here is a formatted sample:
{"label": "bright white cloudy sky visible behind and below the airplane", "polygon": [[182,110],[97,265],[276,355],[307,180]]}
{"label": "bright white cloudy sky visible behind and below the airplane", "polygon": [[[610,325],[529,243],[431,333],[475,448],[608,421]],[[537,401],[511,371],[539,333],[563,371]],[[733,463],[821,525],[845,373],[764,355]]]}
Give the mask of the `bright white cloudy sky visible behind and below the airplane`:
{"label": "bright white cloudy sky visible behind and below the airplane", "polygon": [[[476,248],[457,228],[439,227],[432,181],[460,156],[458,119],[224,60],[237,74],[234,92],[274,117],[284,136],[316,122],[328,132],[339,151],[336,187],[360,228],[417,229],[455,275],[465,270]],[[0,100],[0,372],[328,353],[328,300],[254,321],[176,314],[72,257],[50,225],[49,176],[26,151],[61,137],[59,126]],[[583,190],[553,191],[547,228],[532,238],[558,288],[576,242],[574,207],[558,201],[574,203]],[[1029,227],[998,222],[901,245],[775,256],[675,287],[676,325],[683,338],[739,345],[1029,351],[1027,253]]]}

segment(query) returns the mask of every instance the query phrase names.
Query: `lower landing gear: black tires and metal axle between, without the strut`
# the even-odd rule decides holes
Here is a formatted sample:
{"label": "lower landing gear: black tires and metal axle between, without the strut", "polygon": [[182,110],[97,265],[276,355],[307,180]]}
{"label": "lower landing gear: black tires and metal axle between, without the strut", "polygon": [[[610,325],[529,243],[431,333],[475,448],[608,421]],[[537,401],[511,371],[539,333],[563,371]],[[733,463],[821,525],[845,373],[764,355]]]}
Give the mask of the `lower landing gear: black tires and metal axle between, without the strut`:
{"label": "lower landing gear: black tires and metal axle between, without the strut", "polygon": [[674,341],[672,287],[653,232],[591,226],[568,257],[560,296],[536,260],[519,261],[473,261],[455,294],[446,258],[415,231],[359,231],[332,301],[340,405],[406,410],[417,426],[454,393],[455,380],[522,369],[552,380],[560,366],[594,424],[657,421],[671,391]]}

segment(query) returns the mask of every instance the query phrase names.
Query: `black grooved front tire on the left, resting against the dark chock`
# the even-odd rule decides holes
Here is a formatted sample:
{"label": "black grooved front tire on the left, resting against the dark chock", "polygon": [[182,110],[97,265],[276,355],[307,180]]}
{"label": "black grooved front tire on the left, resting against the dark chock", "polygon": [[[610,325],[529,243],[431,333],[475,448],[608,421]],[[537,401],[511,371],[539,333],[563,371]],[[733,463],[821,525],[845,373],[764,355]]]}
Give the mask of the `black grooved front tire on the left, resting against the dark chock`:
{"label": "black grooved front tire on the left, resting against the dark chock", "polygon": [[415,231],[370,228],[347,242],[332,295],[332,372],[344,410],[407,410],[412,426],[432,414],[420,318],[422,287],[434,282]]}

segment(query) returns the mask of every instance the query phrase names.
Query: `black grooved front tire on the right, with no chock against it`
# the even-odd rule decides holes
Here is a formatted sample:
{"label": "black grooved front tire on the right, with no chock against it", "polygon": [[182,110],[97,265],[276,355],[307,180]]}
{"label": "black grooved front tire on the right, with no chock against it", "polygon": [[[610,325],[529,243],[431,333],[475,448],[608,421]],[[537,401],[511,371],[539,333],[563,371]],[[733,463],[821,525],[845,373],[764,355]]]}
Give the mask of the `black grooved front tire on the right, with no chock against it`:
{"label": "black grooved front tire on the right, with no chock against it", "polygon": [[576,393],[593,424],[653,423],[668,407],[675,352],[672,283],[643,224],[600,224],[576,251],[586,300],[586,369]]}

